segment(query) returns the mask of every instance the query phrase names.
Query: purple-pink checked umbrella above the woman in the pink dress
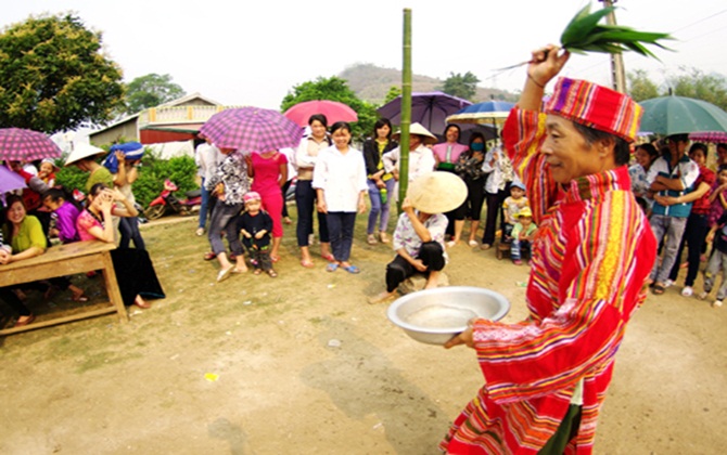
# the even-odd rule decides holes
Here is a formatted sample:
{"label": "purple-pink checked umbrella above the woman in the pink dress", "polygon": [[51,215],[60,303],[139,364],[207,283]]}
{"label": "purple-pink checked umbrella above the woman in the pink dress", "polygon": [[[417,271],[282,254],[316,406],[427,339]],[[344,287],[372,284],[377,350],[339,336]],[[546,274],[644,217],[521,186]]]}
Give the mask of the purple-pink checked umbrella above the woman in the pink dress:
{"label": "purple-pink checked umbrella above the woman in the pink dress", "polygon": [[303,129],[277,110],[260,107],[226,109],[213,115],[200,132],[220,148],[268,152],[296,147]]}

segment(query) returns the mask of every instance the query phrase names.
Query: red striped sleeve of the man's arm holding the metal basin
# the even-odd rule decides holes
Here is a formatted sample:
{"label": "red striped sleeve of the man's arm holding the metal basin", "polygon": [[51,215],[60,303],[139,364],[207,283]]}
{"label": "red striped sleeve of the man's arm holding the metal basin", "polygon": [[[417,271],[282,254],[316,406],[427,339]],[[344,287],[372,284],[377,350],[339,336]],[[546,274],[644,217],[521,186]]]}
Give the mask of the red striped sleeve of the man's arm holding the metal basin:
{"label": "red striped sleeve of the man's arm holding the metal basin", "polygon": [[[577,210],[577,209],[575,209]],[[543,321],[474,326],[477,358],[489,396],[498,402],[566,390],[615,355],[653,257],[648,223],[628,192],[587,207],[571,225],[557,310]],[[634,226],[638,226],[634,229]],[[637,246],[641,243],[640,253]]]}

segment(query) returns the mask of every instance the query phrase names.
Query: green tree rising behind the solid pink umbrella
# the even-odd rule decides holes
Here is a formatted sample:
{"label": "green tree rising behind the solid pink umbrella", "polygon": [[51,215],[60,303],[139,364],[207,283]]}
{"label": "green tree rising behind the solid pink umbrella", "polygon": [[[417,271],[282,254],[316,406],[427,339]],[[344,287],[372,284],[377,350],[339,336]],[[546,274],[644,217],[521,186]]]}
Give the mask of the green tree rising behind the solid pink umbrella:
{"label": "green tree rising behind the solid pink umbrella", "polygon": [[371,134],[373,123],[378,118],[375,107],[360,100],[348,87],[346,80],[336,76],[319,77],[315,81],[307,81],[293,87],[293,91],[283,98],[280,109],[285,112],[297,103],[314,100],[331,100],[348,105],[358,114],[358,121],[352,123],[354,139],[360,141]]}

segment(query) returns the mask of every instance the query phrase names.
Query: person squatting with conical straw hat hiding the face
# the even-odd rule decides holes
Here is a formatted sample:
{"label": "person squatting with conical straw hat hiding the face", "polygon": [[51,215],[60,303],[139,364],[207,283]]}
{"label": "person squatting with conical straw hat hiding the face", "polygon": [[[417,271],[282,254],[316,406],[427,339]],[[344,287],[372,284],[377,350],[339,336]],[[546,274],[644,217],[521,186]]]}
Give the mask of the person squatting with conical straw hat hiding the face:
{"label": "person squatting with conical straw hat hiding the face", "polygon": [[411,182],[394,231],[396,257],[386,265],[386,290],[369,303],[395,297],[399,284],[418,272],[426,275],[425,289],[438,285],[447,261],[444,233],[448,221],[443,213],[459,207],[465,198],[467,185],[450,172],[430,172]]}

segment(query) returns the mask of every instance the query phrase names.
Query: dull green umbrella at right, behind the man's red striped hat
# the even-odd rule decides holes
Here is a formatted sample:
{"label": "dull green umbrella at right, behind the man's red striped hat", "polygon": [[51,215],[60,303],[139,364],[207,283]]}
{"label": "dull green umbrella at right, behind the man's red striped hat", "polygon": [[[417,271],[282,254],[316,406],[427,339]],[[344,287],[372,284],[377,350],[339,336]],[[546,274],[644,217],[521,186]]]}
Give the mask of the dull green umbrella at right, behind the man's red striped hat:
{"label": "dull green umbrella at right, behind the man's red striped hat", "polygon": [[661,96],[639,103],[643,107],[642,132],[680,134],[698,131],[727,132],[727,113],[706,101]]}

